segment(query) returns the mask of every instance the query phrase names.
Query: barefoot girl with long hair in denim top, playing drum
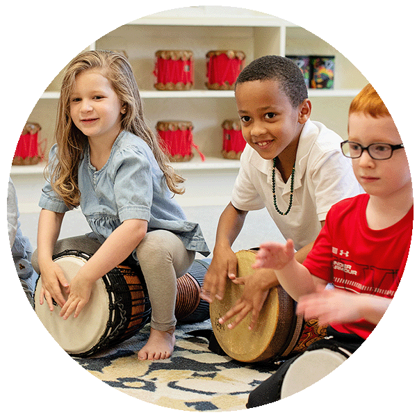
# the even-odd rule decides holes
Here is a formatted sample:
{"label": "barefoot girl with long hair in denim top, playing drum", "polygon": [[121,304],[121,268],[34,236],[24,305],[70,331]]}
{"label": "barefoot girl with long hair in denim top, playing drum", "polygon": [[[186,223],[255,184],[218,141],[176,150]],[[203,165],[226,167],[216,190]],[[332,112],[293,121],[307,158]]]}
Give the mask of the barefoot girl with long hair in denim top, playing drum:
{"label": "barefoot girl with long hair in denim top, playing drum", "polygon": [[[174,350],[177,277],[195,252],[209,254],[202,231],[172,199],[183,179],[167,165],[145,124],[129,62],[111,51],[76,56],[63,79],[56,145],[42,190],[38,250],[40,304],[77,317],[92,284],[133,255],[152,305],[151,333],[138,359],[166,359]],[[66,211],[80,206],[92,233],[57,242]],[[66,249],[93,254],[69,284],[52,256]],[[61,290],[63,288],[63,290]],[[66,296],[66,297],[65,297]],[[65,300],[67,299],[67,300]]]}

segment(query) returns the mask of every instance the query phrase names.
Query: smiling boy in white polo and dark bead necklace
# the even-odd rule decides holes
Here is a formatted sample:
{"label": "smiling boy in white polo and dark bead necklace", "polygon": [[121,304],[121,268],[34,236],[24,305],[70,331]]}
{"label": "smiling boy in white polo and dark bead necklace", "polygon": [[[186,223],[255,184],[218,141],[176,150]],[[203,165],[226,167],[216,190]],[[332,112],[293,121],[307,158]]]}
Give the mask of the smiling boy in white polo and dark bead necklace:
{"label": "smiling boy in white polo and dark bead necklace", "polygon": [[295,242],[295,258],[302,262],[329,208],[357,195],[360,188],[350,162],[341,154],[341,138],[309,120],[311,101],[302,74],[291,60],[281,56],[254,60],[240,73],[235,95],[248,146],[240,158],[231,202],[220,216],[202,298],[222,300],[226,279],[245,284],[242,297],[220,322],[236,316],[229,324],[233,328],[252,312],[252,328],[277,279],[266,269],[236,278],[231,245],[247,212],[266,207],[284,238]]}

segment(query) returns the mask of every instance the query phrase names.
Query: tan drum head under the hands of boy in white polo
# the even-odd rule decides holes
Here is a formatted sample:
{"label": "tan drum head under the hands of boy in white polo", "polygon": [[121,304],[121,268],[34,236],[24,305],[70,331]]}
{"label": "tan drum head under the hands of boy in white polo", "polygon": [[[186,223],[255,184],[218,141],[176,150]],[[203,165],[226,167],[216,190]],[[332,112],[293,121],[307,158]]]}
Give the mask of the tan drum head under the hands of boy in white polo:
{"label": "tan drum head under the hands of boy in white polo", "polygon": [[[236,253],[236,256],[238,258],[238,277],[251,275],[253,273],[252,264],[256,258],[255,252],[240,251]],[[286,332],[282,334],[282,341],[277,341],[276,337],[279,320],[279,289],[275,287],[270,290],[254,329],[248,329],[250,314],[234,329],[229,329],[228,323],[220,325],[219,318],[231,309],[242,293],[243,286],[234,284],[230,279],[227,279],[223,300],[211,302],[210,318],[215,338],[224,352],[238,361],[255,362],[270,359],[275,356],[273,351],[277,353],[279,345],[284,344],[288,337]],[[292,317],[293,311],[290,313],[290,320]]]}

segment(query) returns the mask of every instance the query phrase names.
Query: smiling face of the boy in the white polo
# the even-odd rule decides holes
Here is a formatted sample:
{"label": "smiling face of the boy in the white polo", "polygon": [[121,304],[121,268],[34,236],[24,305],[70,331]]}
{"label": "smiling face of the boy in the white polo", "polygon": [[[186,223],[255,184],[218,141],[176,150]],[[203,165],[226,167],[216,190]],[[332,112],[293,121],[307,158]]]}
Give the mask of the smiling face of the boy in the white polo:
{"label": "smiling face of the boy in the white polo", "polygon": [[246,142],[264,159],[288,154],[295,161],[303,124],[309,119],[309,99],[293,108],[279,81],[245,81],[236,85],[236,104]]}

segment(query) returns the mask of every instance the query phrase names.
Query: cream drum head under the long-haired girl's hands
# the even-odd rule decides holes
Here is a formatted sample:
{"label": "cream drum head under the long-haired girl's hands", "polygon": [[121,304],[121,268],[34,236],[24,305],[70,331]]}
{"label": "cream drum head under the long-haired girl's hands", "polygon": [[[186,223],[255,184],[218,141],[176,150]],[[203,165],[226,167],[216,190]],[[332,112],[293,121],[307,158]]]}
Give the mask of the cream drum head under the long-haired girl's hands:
{"label": "cream drum head under the long-haired girl's hands", "polygon": [[[71,282],[79,269],[87,262],[81,256],[65,255],[55,259],[62,268],[65,278]],[[59,316],[60,306],[54,306],[54,311],[49,311],[49,306],[44,300],[39,302],[42,277],[39,277],[35,289],[35,312],[56,342],[69,354],[81,354],[94,347],[104,334],[109,320],[109,296],[104,281],[95,282],[89,302],[77,318],[74,313],[63,320]]]}

